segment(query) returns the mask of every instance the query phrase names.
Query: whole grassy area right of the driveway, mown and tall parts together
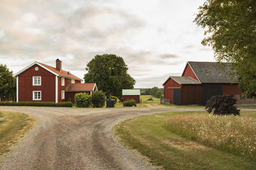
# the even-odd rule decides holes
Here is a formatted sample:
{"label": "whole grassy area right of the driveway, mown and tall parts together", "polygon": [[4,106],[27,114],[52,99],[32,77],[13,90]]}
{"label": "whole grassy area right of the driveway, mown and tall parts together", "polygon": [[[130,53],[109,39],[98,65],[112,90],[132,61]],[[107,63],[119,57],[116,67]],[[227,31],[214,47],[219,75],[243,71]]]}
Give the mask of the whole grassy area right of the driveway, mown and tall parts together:
{"label": "whole grassy area right of the driveway, mown and tall parts together", "polygon": [[113,131],[160,169],[256,169],[255,122],[255,112],[180,111],[130,118]]}

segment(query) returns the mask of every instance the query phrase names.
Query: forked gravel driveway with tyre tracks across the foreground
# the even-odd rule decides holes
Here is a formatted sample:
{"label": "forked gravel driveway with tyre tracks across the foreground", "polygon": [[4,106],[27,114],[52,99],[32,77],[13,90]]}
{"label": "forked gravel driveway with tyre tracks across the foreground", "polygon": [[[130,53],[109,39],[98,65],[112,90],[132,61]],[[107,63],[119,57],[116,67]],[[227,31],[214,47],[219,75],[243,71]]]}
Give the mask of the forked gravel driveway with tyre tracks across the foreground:
{"label": "forked gravel driveway with tyre tracks across the foreground", "polygon": [[151,169],[118,144],[112,127],[125,118],[170,108],[8,107],[38,118],[36,127],[8,154],[0,169]]}

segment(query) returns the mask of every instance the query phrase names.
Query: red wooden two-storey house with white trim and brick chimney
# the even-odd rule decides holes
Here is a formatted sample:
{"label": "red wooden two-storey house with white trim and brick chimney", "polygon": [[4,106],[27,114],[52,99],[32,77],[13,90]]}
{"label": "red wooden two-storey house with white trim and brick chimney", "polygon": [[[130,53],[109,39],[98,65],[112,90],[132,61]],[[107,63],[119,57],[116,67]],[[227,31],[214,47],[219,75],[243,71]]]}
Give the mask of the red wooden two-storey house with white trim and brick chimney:
{"label": "red wooden two-storey house with white trim and brick chimney", "polygon": [[71,99],[74,103],[74,96],[77,92],[92,94],[97,90],[95,83],[81,83],[83,81],[81,78],[61,69],[59,59],[56,60],[56,67],[33,62],[14,76],[17,78],[17,102],[58,103]]}

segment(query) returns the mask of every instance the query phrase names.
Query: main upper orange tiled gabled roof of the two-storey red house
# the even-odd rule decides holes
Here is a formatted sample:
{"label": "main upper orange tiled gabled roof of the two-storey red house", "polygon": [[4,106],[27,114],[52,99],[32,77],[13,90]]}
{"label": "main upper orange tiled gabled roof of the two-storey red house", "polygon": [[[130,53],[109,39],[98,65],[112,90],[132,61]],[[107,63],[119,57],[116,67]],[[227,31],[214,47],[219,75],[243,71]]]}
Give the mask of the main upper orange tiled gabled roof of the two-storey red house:
{"label": "main upper orange tiled gabled roof of the two-storey red house", "polygon": [[47,71],[51,72],[52,74],[54,74],[56,76],[61,76],[61,77],[65,77],[65,78],[70,78],[70,79],[74,79],[74,80],[83,81],[83,80],[81,80],[81,78],[78,78],[77,76],[75,76],[74,74],[69,73],[68,71],[65,71],[63,69],[61,71],[58,71],[55,67],[48,66],[48,65],[42,64],[40,62],[33,62],[32,64],[29,64],[29,66],[20,70],[18,73],[14,74],[13,76],[18,76],[19,74],[23,73],[24,71],[26,71],[30,67],[33,67],[35,64],[37,64],[40,67],[43,67],[44,69],[46,69]]}

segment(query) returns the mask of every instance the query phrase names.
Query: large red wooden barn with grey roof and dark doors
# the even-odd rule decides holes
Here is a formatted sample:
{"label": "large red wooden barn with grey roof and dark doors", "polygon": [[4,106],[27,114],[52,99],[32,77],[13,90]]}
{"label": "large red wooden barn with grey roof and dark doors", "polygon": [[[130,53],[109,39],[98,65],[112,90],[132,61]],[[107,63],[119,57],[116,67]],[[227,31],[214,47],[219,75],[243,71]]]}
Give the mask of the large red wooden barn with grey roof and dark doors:
{"label": "large red wooden barn with grey roof and dark doors", "polygon": [[228,76],[230,63],[223,68],[217,62],[187,62],[182,76],[170,76],[163,83],[164,103],[204,105],[215,95],[234,94],[237,104],[252,104],[255,101],[240,99],[238,84]]}

